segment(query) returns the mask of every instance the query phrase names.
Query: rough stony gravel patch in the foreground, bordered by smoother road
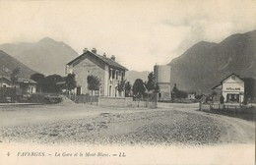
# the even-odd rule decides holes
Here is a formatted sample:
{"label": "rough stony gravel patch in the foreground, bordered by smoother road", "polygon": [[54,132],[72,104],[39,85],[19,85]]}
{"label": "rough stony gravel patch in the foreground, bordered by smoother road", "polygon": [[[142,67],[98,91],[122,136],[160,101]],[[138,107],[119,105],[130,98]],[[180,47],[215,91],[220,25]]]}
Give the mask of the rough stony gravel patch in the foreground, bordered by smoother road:
{"label": "rough stony gravel patch in the foreground, bordered by smoother road", "polygon": [[120,145],[216,144],[226,134],[217,120],[188,112],[100,113],[83,119],[4,127],[1,142]]}

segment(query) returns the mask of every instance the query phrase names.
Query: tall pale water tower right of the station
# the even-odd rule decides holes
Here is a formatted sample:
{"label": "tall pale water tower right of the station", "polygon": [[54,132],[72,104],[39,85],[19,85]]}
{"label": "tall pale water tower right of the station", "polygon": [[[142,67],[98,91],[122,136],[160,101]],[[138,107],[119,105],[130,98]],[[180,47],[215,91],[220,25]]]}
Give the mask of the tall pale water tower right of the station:
{"label": "tall pale water tower right of the station", "polygon": [[154,76],[156,83],[160,86],[159,99],[170,100],[171,99],[171,87],[170,87],[170,66],[155,65]]}

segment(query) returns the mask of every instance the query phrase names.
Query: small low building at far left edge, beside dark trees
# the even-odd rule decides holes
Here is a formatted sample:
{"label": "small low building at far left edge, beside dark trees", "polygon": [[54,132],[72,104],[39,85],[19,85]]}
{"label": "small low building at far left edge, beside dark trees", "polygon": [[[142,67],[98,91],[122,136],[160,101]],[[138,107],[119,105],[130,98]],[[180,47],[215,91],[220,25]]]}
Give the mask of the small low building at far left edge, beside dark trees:
{"label": "small low building at far left edge, beside dark trees", "polygon": [[0,87],[1,88],[11,88],[16,87],[19,88],[21,93],[35,93],[36,89],[36,82],[25,79],[25,78],[18,78],[18,80],[15,83],[12,83],[11,79],[9,77],[0,77]]}

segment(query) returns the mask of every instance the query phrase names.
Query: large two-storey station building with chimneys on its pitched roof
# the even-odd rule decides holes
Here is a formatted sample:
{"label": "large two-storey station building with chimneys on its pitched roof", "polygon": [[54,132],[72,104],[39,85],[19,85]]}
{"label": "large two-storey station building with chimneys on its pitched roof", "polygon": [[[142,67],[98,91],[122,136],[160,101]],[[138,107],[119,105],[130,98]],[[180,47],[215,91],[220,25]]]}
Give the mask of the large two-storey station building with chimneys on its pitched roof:
{"label": "large two-storey station building with chimneys on its pitched roof", "polygon": [[[125,80],[127,69],[115,61],[115,57],[96,54],[84,50],[84,53],[66,65],[66,74],[75,74],[77,87],[74,92],[80,94],[96,94],[101,96],[124,96],[124,91],[118,91],[118,83]],[[100,80],[100,87],[96,93],[88,89],[87,78],[96,76]]]}

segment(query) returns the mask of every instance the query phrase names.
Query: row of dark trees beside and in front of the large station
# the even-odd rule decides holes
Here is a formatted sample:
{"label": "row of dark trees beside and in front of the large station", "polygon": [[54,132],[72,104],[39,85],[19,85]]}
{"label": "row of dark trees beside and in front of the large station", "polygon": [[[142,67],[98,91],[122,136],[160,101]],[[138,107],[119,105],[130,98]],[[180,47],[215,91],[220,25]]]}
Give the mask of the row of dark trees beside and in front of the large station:
{"label": "row of dark trees beside and in front of the large station", "polygon": [[[17,72],[14,71],[14,75]],[[75,74],[69,74],[67,77],[61,77],[59,75],[50,75],[45,77],[42,74],[33,74],[31,79],[38,83],[37,89],[41,92],[60,92],[62,89],[71,90],[77,85],[75,81]],[[91,75],[87,78],[88,89],[92,91],[92,94],[96,90],[99,90],[101,80],[97,76]],[[125,96],[144,97],[147,93],[159,92],[160,86],[155,81],[153,72],[148,76],[148,82],[143,82],[141,79],[137,79],[133,85],[125,80],[120,81],[117,84],[117,90],[119,92],[125,91]]]}

